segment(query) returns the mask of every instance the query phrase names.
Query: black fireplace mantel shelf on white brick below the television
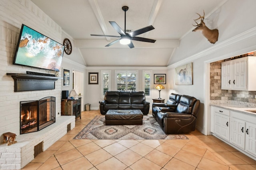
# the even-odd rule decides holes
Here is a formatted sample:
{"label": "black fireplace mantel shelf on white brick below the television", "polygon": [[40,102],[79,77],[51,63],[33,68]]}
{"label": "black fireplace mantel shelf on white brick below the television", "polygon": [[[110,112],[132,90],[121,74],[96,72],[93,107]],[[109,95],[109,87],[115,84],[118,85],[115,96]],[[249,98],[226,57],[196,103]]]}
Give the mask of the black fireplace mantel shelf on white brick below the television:
{"label": "black fireplace mantel shelf on white brick below the television", "polygon": [[52,90],[55,89],[55,81],[62,77],[41,76],[34,74],[6,73],[14,80],[14,92]]}

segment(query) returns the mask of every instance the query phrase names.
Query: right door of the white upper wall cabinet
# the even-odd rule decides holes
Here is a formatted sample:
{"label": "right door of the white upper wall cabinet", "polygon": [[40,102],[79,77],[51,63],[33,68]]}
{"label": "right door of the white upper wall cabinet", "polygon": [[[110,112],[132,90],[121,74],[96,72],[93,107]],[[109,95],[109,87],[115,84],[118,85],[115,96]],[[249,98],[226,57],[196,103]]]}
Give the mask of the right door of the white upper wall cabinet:
{"label": "right door of the white upper wall cabinet", "polygon": [[232,89],[247,89],[247,58],[232,60]]}

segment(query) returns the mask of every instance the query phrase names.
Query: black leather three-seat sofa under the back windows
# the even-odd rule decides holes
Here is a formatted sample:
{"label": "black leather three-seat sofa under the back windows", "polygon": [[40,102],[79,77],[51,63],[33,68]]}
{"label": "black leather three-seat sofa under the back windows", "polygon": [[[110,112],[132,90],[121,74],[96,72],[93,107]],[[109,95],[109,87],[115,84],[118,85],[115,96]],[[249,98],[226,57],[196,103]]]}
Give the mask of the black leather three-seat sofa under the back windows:
{"label": "black leather three-seat sofa under the back windows", "polygon": [[149,107],[144,92],[107,91],[104,100],[100,102],[100,113],[105,115],[110,109],[140,109],[147,115]]}

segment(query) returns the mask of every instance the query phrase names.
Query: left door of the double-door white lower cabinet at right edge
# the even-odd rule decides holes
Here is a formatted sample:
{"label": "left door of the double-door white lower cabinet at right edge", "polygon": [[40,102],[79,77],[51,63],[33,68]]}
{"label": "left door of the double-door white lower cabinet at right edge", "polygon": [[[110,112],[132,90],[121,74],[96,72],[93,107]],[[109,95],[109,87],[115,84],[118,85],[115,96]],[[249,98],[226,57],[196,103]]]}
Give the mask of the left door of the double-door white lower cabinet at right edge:
{"label": "left door of the double-door white lower cabinet at right edge", "polygon": [[245,121],[231,117],[230,141],[234,145],[244,149],[245,146]]}

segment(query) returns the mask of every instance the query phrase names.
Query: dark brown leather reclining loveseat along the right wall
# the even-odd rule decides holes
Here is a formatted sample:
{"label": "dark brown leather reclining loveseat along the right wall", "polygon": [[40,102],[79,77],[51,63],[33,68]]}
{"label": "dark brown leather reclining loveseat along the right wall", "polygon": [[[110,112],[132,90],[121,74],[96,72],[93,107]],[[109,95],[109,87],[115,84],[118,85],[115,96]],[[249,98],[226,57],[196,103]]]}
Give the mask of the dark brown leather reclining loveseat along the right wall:
{"label": "dark brown leather reclining loveseat along the right wall", "polygon": [[[170,96],[172,98],[170,100],[174,102],[173,104],[166,104],[167,107],[160,108],[153,103],[154,107],[152,108],[155,111],[154,118],[162,127],[164,133],[179,134],[194,131],[196,129],[196,116],[200,100],[187,95],[171,94]],[[158,112],[156,113],[156,111]]]}

